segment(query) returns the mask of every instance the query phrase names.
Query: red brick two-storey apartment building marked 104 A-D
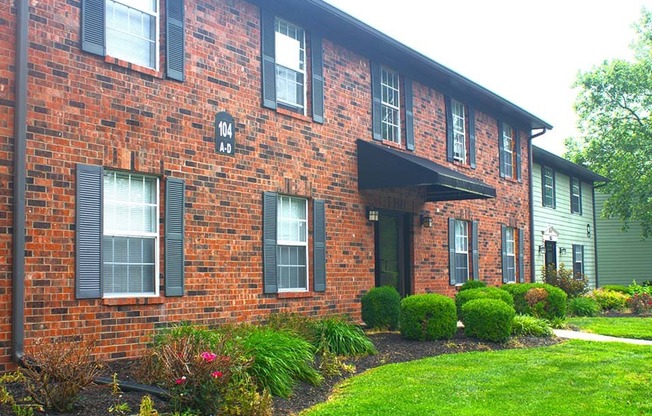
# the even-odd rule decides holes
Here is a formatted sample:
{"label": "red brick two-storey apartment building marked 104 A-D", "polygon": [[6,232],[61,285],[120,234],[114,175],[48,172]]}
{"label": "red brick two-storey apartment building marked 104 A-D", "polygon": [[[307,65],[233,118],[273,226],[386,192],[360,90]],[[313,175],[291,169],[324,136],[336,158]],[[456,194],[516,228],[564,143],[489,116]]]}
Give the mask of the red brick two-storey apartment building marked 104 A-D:
{"label": "red brick two-storey apartment building marked 104 A-D", "polygon": [[321,0],[0,0],[0,56],[0,370],[532,278],[551,126]]}

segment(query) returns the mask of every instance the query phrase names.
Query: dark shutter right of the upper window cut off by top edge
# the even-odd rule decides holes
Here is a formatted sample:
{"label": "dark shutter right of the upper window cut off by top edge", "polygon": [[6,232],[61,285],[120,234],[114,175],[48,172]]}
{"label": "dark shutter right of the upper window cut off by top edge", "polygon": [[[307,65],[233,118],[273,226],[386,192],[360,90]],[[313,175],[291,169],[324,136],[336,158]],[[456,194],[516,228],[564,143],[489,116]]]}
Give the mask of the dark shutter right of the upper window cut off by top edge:
{"label": "dark shutter right of the upper window cut off by top edge", "polygon": [[183,81],[185,78],[185,18],[183,0],[165,3],[165,54],[168,78]]}

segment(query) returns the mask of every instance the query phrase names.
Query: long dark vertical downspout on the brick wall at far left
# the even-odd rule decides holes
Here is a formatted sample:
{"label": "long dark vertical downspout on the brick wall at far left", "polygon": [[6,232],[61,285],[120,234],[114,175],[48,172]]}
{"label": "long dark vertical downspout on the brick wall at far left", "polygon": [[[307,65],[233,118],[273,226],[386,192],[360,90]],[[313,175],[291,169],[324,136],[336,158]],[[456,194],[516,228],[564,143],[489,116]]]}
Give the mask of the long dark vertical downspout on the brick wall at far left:
{"label": "long dark vertical downspout on the brick wall at far left", "polygon": [[14,207],[11,347],[15,362],[25,344],[25,182],[27,178],[27,28],[29,0],[16,0],[16,88],[14,91]]}

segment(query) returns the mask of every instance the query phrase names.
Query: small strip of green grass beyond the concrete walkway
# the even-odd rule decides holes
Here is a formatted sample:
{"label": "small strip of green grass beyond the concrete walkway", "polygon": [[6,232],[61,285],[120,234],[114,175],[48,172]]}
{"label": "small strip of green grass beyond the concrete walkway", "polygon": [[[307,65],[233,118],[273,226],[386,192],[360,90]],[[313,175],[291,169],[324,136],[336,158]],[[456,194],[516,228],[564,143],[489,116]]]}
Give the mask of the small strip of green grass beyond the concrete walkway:
{"label": "small strip of green grass beyond the concrete walkway", "polygon": [[567,323],[594,334],[652,340],[652,318],[569,318]]}

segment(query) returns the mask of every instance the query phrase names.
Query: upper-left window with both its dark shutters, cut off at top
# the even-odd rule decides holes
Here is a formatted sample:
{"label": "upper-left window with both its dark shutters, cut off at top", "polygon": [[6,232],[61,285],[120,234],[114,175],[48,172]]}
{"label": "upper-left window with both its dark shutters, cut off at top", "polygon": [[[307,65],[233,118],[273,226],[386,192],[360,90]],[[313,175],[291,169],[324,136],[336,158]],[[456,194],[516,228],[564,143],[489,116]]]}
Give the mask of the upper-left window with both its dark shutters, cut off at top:
{"label": "upper-left window with both its dark shutters, cut off at top", "polygon": [[184,0],[81,0],[81,44],[86,52],[159,70],[160,26],[165,26],[168,78],[185,78]]}

